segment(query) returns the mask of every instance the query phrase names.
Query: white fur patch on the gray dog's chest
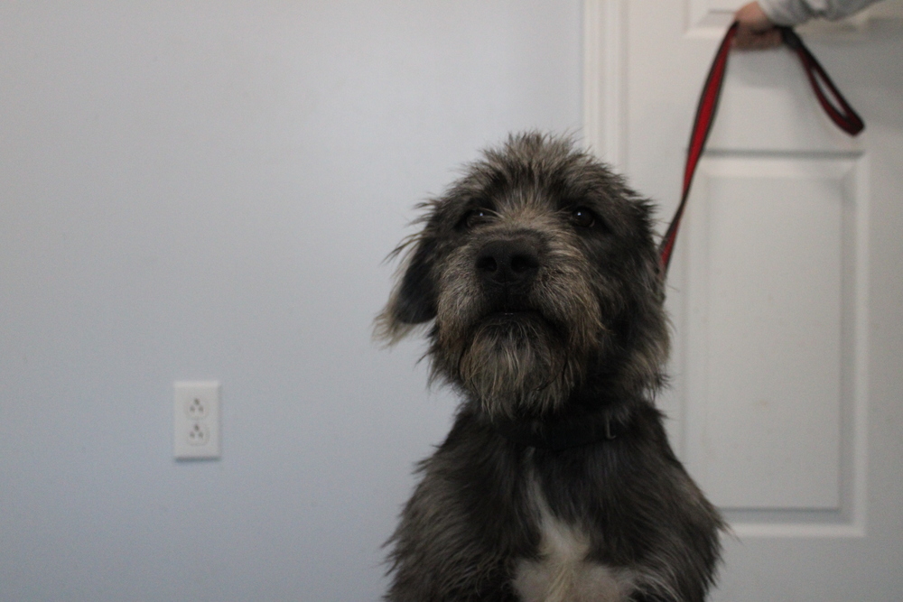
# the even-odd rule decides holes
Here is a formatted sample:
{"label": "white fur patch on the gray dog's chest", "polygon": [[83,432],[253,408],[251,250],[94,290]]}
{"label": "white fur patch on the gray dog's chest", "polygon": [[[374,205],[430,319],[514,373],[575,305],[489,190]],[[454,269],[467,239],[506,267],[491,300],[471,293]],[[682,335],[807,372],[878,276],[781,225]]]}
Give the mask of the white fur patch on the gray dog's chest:
{"label": "white fur patch on the gray dog's chest", "polygon": [[566,524],[550,511],[534,487],[535,507],[542,533],[538,560],[517,562],[514,588],[523,602],[622,602],[632,590],[627,570],[614,569],[587,558],[589,535]]}

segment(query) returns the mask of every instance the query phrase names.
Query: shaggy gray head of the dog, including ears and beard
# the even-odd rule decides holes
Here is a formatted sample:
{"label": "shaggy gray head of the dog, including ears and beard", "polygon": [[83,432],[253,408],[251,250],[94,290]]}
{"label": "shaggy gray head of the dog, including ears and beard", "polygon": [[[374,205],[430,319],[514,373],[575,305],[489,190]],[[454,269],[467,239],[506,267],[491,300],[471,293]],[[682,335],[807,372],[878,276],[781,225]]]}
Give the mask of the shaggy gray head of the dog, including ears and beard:
{"label": "shaggy gray head of the dog, including ears and beard", "polygon": [[650,206],[570,141],[521,134],[424,204],[377,336],[429,331],[433,377],[490,416],[633,398],[667,355]]}

